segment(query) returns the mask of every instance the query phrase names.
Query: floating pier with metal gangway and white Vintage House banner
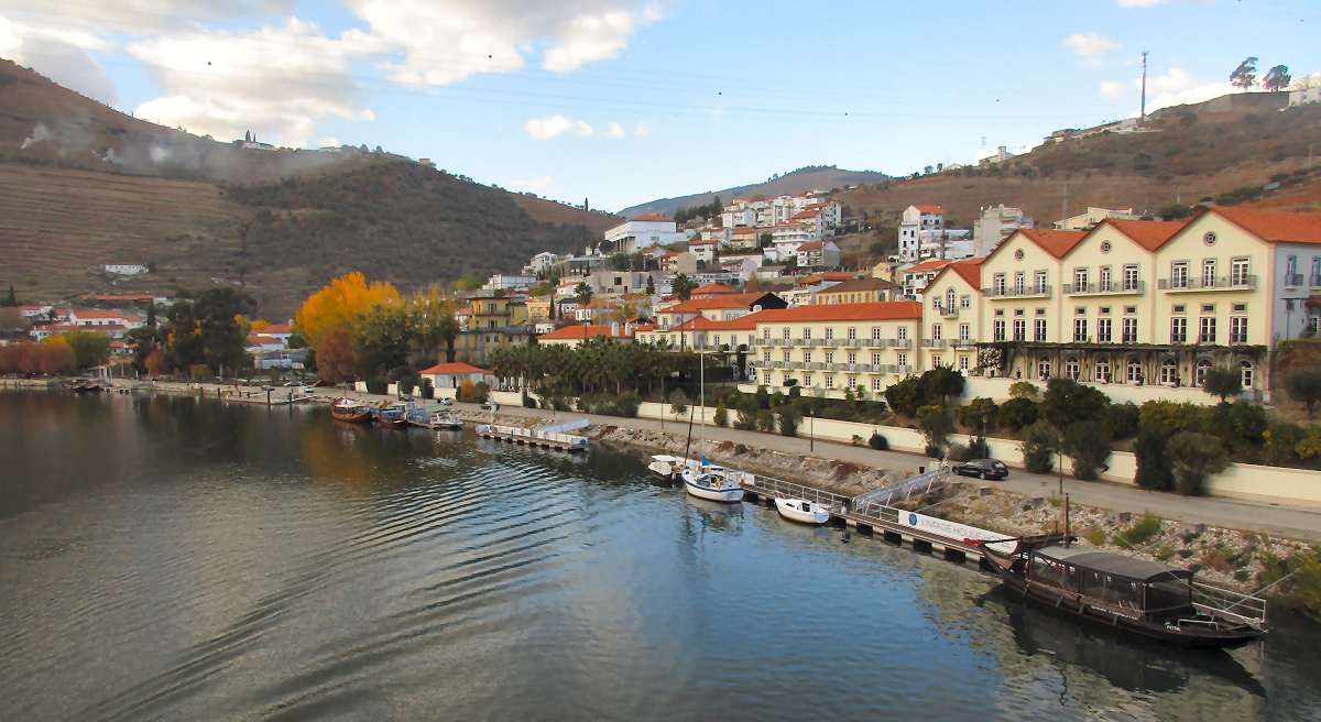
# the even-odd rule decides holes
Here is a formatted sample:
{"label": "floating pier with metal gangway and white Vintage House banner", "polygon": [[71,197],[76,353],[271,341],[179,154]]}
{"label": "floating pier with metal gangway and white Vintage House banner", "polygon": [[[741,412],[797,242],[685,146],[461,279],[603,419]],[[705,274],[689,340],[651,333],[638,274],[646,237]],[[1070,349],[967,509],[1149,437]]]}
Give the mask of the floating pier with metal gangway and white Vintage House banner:
{"label": "floating pier with metal gangway and white Vintage House banner", "polygon": [[[948,483],[948,469],[938,467],[900,484],[859,496],[843,496],[782,479],[757,476],[753,483],[744,483],[744,499],[754,504],[765,502],[768,507],[774,507],[775,499],[806,499],[828,508],[830,524],[832,525],[852,527],[864,536],[880,532],[886,541],[893,544],[909,544],[917,552],[942,554],[946,561],[983,566],[987,562],[983,560],[980,545],[966,544],[967,537],[955,539],[930,529],[902,524],[900,515],[908,512],[889,506]],[[999,535],[991,535],[992,539],[995,536]]]}

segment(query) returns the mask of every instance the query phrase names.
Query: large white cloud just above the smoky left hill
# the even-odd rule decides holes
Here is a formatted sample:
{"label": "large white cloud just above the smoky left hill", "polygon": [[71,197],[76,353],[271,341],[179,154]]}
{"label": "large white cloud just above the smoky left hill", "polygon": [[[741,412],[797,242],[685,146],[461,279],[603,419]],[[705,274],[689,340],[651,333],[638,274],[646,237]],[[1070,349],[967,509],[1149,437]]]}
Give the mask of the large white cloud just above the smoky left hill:
{"label": "large white cloud just above the smoky left hill", "polygon": [[137,115],[218,139],[252,131],[277,145],[303,147],[320,137],[325,117],[371,120],[362,92],[347,75],[341,41],[297,18],[246,36],[174,33],[128,46],[156,70],[165,95]]}

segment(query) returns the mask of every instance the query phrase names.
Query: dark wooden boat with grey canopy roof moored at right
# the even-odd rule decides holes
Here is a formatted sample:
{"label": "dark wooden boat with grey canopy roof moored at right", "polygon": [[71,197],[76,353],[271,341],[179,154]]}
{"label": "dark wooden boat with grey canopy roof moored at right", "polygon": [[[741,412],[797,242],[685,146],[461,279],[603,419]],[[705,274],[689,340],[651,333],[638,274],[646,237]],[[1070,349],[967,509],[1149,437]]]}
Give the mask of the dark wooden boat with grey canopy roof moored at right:
{"label": "dark wooden boat with grey canopy roof moored at right", "polygon": [[1199,585],[1186,569],[1073,546],[1058,533],[964,541],[980,544],[1013,590],[1083,619],[1184,647],[1234,647],[1266,634],[1262,599]]}

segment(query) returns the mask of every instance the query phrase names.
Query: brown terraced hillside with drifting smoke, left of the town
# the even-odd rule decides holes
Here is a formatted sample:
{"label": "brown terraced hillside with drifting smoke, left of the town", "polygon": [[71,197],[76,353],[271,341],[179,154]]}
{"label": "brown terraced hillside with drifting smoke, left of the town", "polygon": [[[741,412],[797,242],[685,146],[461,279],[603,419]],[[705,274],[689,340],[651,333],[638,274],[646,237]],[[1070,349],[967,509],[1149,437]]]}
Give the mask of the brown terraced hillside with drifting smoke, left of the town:
{"label": "brown terraced hillside with drifting smoke, left of the town", "polygon": [[[0,286],[42,301],[242,282],[281,318],[343,271],[402,290],[515,272],[618,223],[390,153],[239,149],[8,61],[0,107]],[[156,272],[94,272],[107,263]]]}

